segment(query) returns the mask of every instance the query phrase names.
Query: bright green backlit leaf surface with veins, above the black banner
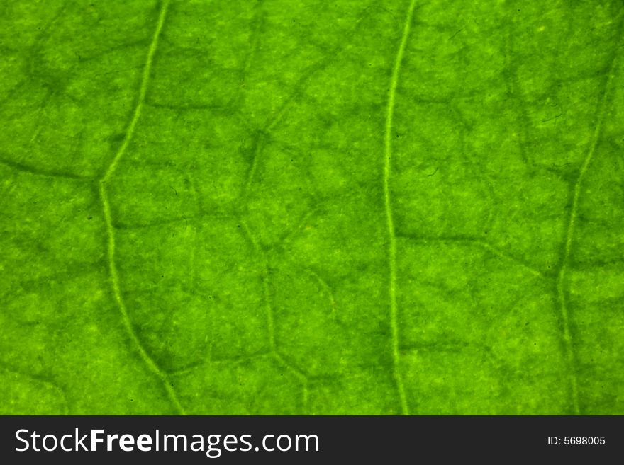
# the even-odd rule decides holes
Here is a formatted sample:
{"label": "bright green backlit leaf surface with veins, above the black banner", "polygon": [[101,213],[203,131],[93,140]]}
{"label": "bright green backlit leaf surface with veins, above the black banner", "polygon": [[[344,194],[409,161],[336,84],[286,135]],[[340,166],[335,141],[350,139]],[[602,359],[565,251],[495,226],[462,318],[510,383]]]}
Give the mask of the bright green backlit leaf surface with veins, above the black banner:
{"label": "bright green backlit leaf surface with veins, above the black banner", "polygon": [[0,2],[3,414],[624,414],[624,5]]}

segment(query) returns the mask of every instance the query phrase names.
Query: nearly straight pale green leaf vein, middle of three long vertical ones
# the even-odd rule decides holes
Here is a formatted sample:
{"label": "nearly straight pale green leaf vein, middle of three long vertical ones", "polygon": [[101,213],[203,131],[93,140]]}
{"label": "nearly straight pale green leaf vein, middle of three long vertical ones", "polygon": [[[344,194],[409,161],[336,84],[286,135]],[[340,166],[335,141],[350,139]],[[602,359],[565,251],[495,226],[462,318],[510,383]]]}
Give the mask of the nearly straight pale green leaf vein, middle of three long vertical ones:
{"label": "nearly straight pale green leaf vein, middle of three long vertical ones", "polygon": [[390,81],[390,89],[388,92],[388,108],[386,110],[386,133],[384,137],[384,203],[386,207],[386,225],[388,228],[388,254],[389,254],[389,294],[390,294],[390,326],[392,333],[392,360],[394,365],[394,381],[396,389],[399,391],[401,401],[401,413],[409,415],[405,386],[403,386],[403,377],[399,367],[399,323],[397,321],[396,307],[396,234],[394,231],[394,218],[392,217],[392,205],[390,196],[390,173],[392,161],[392,119],[394,116],[394,102],[396,99],[396,86],[399,82],[399,71],[401,70],[401,62],[403,62],[403,54],[407,45],[407,40],[412,23],[416,0],[411,0],[408,8],[405,25],[403,26],[403,35],[399,43],[399,50],[396,52],[394,68],[392,69],[392,77]]}

